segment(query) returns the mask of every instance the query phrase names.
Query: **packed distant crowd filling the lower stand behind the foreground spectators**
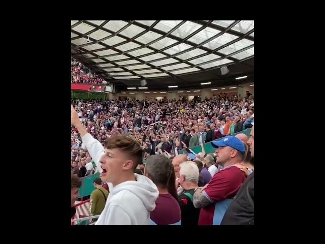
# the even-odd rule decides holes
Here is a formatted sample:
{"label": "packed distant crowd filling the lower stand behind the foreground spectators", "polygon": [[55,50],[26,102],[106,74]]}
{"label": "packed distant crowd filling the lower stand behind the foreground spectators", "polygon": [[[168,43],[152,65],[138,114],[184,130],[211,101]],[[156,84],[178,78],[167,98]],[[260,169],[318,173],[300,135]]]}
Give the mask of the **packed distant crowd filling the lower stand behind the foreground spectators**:
{"label": "packed distant crowd filling the lower stand behind the foreground spectators", "polygon": [[[172,157],[181,149],[251,128],[254,102],[251,94],[246,97],[239,100],[220,94],[204,101],[74,99],[72,105],[87,132],[102,145],[114,134],[126,134],[140,143],[146,160],[154,154]],[[86,154],[76,128],[71,129],[71,147],[74,162],[86,160],[76,157],[80,151]]]}

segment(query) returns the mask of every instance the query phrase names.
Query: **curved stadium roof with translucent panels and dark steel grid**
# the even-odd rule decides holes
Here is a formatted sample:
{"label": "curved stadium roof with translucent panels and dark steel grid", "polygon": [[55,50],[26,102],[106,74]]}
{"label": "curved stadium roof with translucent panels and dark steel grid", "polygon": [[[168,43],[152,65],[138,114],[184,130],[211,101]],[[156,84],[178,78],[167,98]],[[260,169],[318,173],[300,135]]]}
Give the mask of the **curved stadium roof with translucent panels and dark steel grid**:
{"label": "curved stadium roof with translucent panels and dark steel grid", "polygon": [[254,21],[72,20],[71,52],[122,90],[142,79],[153,90],[234,85],[253,81]]}

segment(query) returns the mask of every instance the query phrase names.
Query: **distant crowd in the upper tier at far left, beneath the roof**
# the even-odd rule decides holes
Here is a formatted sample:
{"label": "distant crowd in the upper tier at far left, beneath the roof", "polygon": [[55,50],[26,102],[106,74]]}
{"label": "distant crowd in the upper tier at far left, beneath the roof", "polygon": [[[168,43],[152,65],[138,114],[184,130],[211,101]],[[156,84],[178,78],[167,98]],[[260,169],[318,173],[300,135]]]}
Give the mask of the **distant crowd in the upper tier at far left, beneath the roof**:
{"label": "distant crowd in the upper tier at far left, beneath the roof", "polygon": [[91,70],[71,57],[71,82],[72,83],[89,83],[89,84],[106,84],[107,81],[93,74]]}

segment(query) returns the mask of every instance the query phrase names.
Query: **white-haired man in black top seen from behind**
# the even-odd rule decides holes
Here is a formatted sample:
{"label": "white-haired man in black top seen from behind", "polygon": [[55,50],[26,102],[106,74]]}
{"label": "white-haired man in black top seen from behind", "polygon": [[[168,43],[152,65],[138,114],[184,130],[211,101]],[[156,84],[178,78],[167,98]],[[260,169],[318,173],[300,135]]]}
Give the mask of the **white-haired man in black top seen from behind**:
{"label": "white-haired man in black top seen from behind", "polygon": [[181,207],[181,225],[197,226],[199,223],[200,208],[193,205],[194,190],[198,188],[199,168],[194,162],[180,164],[179,184],[184,191],[179,195],[178,202]]}

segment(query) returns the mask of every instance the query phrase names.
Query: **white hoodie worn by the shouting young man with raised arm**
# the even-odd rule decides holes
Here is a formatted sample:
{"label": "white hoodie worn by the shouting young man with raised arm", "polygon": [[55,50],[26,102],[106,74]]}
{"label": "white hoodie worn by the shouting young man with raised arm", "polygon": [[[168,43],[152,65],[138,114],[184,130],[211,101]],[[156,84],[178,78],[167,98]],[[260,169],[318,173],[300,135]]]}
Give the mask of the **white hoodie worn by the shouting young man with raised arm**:
{"label": "white hoodie worn by the shouting young man with raised arm", "polygon": [[[99,161],[104,154],[104,147],[89,133],[82,137],[82,141],[99,172],[102,172],[103,169]],[[110,194],[95,225],[149,224],[150,211],[156,207],[158,190],[149,178],[139,174],[135,174],[135,176],[137,181],[125,181],[114,188],[112,183],[107,182]]]}

